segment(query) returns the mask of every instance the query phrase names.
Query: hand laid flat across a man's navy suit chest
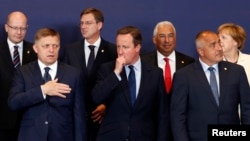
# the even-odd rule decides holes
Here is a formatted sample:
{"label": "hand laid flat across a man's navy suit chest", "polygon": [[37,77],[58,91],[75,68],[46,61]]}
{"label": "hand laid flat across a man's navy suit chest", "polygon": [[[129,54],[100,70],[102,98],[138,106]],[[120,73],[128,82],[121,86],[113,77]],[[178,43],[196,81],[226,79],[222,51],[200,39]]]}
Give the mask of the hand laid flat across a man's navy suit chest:
{"label": "hand laid flat across a man's navy suit chest", "polygon": [[71,88],[67,84],[58,83],[58,78],[51,80],[41,85],[42,92],[49,96],[59,96],[66,98],[65,94],[69,94]]}

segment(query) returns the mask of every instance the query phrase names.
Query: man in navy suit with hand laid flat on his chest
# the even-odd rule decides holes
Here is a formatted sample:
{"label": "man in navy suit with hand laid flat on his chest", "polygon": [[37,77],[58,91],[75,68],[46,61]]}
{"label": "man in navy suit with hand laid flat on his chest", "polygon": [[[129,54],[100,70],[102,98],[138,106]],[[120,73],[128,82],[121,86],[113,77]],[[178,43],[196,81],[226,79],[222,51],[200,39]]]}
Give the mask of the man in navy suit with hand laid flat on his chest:
{"label": "man in navy suit with hand laid flat on his chest", "polygon": [[17,69],[9,107],[22,111],[18,141],[86,141],[84,84],[80,70],[57,61],[60,36],[36,32],[38,60]]}

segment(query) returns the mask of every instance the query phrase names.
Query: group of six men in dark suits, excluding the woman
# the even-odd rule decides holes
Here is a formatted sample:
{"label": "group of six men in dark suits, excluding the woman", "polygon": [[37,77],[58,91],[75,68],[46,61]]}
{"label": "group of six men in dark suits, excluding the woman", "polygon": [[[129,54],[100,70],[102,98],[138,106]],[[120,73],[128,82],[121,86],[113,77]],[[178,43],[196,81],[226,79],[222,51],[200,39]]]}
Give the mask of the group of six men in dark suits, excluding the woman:
{"label": "group of six men in dark suits, excluding the woman", "polygon": [[[63,63],[58,60],[58,32],[50,28],[38,30],[32,48],[23,40],[27,17],[22,12],[8,16],[8,38],[0,47],[0,65],[9,68],[0,69],[1,139],[15,141],[19,132],[19,141],[206,141],[207,125],[240,124],[239,103],[242,123],[249,124],[250,88],[245,71],[222,61],[216,33],[203,31],[197,35],[199,60],[193,63],[192,57],[175,50],[176,30],[169,21],[155,26],[156,49],[143,55],[138,28],[119,29],[115,45],[101,37],[103,23],[100,10],[83,10],[83,39],[65,47]],[[14,68],[14,45],[21,46],[22,65],[33,62]],[[173,82],[170,91],[164,84],[166,58]],[[135,96],[130,91],[131,66]],[[219,106],[215,105],[204,66],[215,66],[217,70]],[[48,82],[43,79],[44,67],[50,67]],[[231,75],[233,79],[229,79]],[[11,112],[8,104],[19,114]]]}

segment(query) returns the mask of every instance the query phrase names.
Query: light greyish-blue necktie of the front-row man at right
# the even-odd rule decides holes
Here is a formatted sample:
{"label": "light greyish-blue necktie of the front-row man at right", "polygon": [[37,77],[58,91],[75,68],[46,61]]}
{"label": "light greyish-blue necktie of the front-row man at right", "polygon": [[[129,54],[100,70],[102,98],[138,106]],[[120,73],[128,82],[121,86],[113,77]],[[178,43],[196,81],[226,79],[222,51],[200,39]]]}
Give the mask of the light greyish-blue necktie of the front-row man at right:
{"label": "light greyish-blue necktie of the front-row man at right", "polygon": [[216,104],[217,106],[219,106],[219,92],[218,92],[218,85],[217,85],[216,77],[214,74],[214,68],[209,67],[208,70],[210,71],[210,87],[212,89]]}

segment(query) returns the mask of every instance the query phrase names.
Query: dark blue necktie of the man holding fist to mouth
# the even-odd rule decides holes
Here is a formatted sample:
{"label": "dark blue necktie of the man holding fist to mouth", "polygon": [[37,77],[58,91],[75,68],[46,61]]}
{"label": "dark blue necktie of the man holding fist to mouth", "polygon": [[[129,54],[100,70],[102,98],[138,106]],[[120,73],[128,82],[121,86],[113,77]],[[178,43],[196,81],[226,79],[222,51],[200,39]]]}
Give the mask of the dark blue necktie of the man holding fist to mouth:
{"label": "dark blue necktie of the man holding fist to mouth", "polygon": [[136,100],[136,80],[135,80],[135,71],[134,66],[130,65],[128,66],[130,69],[130,73],[128,76],[128,82],[129,82],[129,88],[130,88],[130,97],[131,97],[131,103],[132,106],[135,103]]}

